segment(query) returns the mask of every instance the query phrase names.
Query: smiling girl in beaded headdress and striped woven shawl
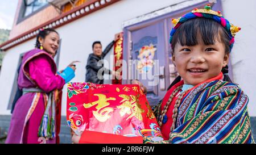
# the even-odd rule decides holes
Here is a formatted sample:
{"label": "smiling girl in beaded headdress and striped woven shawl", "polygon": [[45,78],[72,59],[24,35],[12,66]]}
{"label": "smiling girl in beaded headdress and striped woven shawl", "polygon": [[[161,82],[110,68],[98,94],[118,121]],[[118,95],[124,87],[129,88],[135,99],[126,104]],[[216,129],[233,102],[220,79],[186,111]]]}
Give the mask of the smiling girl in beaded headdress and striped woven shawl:
{"label": "smiling girl in beaded headdress and striped woven shawl", "polygon": [[180,77],[154,107],[165,142],[254,143],[249,99],[227,75],[229,53],[240,28],[209,5],[172,22],[172,61]]}

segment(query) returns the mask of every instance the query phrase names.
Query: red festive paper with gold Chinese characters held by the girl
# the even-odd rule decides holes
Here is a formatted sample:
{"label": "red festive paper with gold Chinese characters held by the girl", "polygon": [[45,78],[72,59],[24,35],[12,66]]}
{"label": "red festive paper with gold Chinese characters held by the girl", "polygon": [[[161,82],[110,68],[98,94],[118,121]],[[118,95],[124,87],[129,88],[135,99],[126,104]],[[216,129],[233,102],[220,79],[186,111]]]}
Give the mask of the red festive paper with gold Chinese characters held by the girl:
{"label": "red festive paper with gold Chinese characters held by the girl", "polygon": [[138,85],[68,83],[67,122],[82,135],[81,143],[142,143],[143,136],[162,137]]}

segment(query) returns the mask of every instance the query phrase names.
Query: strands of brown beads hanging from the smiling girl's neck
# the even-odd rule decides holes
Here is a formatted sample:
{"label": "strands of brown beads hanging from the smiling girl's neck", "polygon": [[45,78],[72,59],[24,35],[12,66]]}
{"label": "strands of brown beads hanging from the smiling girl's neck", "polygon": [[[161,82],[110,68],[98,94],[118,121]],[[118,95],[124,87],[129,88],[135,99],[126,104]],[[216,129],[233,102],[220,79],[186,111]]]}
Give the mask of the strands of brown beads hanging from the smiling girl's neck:
{"label": "strands of brown beads hanging from the smiling girl's neck", "polygon": [[[172,102],[172,99],[176,96],[177,92],[179,92],[181,90],[182,86],[177,87],[171,94],[170,98],[168,99],[166,105],[164,106],[164,109],[161,111],[161,115],[160,115],[160,120],[158,122],[159,126],[161,127],[163,125],[163,120],[164,118],[167,117],[166,113],[168,111],[168,108],[170,107],[170,104]],[[178,114],[178,108],[180,106],[181,103],[181,99],[183,98],[184,94],[187,91],[184,91],[183,93],[181,93],[179,95],[179,97],[176,99],[175,101],[175,105],[174,105],[174,110],[173,110],[173,114],[172,114],[172,125],[171,125],[171,132],[174,131],[175,129],[175,124],[176,124],[176,120],[177,120],[177,114]]]}

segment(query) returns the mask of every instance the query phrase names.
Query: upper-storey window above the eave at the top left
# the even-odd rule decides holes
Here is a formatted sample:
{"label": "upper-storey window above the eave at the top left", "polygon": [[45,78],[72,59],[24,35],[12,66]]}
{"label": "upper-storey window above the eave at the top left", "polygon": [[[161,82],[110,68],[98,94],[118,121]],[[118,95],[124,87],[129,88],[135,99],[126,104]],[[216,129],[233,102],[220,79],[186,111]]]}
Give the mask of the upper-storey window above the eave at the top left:
{"label": "upper-storey window above the eave at the top left", "polygon": [[25,11],[24,17],[30,15],[32,12],[40,9],[41,7],[48,4],[47,0],[24,0]]}

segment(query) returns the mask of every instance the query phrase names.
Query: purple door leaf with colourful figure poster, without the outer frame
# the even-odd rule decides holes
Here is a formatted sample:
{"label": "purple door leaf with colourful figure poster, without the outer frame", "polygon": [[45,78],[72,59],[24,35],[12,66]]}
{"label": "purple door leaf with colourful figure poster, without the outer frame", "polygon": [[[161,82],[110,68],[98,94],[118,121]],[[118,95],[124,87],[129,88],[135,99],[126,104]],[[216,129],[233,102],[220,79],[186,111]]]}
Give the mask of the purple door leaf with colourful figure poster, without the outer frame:
{"label": "purple door leaf with colourful figure poster, without the outer frame", "polygon": [[131,31],[131,73],[147,87],[151,105],[158,103],[166,93],[166,47],[163,37],[164,21]]}

